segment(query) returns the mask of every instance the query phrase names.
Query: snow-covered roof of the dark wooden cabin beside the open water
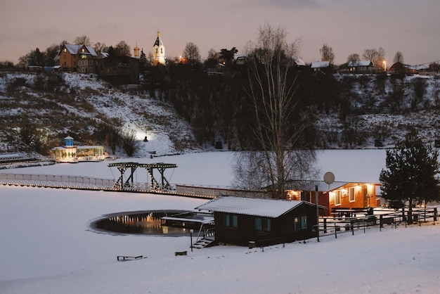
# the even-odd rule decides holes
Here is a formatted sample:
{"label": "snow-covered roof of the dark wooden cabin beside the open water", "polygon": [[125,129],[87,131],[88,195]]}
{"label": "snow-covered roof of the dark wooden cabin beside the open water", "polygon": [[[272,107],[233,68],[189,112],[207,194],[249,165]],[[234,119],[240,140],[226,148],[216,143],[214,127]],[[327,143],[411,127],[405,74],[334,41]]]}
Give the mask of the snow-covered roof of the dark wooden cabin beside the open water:
{"label": "snow-covered roof of the dark wooden cabin beside the open water", "polygon": [[302,203],[306,202],[297,200],[290,201],[267,198],[219,196],[195,209],[236,213],[238,215],[254,215],[257,217],[280,217]]}

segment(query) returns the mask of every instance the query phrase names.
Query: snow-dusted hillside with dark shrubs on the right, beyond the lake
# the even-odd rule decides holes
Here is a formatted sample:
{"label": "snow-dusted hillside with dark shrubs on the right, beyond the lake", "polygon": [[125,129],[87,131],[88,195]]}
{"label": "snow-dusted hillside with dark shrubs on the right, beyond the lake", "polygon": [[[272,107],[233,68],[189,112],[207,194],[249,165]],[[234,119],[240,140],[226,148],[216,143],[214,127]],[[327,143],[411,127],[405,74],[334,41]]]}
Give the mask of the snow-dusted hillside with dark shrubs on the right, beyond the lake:
{"label": "snow-dusted hillside with dark shrubs on the right, beyond the lake", "polygon": [[338,74],[335,79],[343,87],[338,98],[344,109],[318,113],[322,148],[392,147],[409,127],[425,143],[440,139],[438,76]]}

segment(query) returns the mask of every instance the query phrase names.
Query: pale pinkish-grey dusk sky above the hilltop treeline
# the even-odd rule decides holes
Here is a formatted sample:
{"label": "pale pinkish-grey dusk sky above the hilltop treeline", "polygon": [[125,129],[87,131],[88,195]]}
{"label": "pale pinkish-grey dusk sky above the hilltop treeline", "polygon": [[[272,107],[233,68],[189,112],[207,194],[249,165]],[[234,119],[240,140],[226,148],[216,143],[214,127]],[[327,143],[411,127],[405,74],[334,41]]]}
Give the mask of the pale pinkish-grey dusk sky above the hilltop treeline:
{"label": "pale pinkish-grey dusk sky above the hilltop treeline", "polygon": [[415,65],[440,60],[439,0],[0,0],[0,61],[86,35],[108,46],[125,41],[148,54],[160,30],[167,58],[192,41],[202,58],[209,49],[242,53],[259,27],[283,27],[287,41],[302,41],[300,56],[319,60],[323,44],[335,64],[351,53],[382,47]]}

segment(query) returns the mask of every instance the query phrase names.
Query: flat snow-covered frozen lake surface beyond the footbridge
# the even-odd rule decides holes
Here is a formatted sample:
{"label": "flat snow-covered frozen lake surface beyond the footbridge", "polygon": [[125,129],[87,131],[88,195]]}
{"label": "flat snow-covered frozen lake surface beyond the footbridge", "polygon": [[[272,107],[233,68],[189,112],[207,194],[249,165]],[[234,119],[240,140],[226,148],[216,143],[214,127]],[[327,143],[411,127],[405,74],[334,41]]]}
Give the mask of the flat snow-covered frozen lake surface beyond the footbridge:
{"label": "flat snow-covered frozen lake surface beyond the footbridge", "polygon": [[[379,182],[380,171],[385,167],[384,149],[325,150],[317,151],[316,165],[321,170],[319,180],[325,172],[333,172],[336,181]],[[4,172],[31,174],[69,174],[86,177],[117,179],[116,167],[108,167],[110,162],[174,163],[176,169],[165,172],[171,184],[195,184],[230,186],[233,184],[233,162],[235,152],[217,151],[187,153],[183,155],[161,156],[157,158],[120,158],[115,161],[60,163],[53,166],[25,167]],[[136,171],[138,179],[144,181],[142,172]],[[145,173],[146,174],[146,173]],[[146,175],[145,175],[146,177]]]}

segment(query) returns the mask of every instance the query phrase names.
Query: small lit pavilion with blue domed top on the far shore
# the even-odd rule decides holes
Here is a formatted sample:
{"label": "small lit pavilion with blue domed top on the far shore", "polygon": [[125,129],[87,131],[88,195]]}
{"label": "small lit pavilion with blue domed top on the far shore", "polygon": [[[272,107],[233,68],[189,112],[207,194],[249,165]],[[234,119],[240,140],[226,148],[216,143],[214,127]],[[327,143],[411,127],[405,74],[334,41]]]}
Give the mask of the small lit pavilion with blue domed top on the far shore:
{"label": "small lit pavilion with blue domed top on the far shore", "polygon": [[64,146],[52,148],[53,158],[56,162],[80,162],[104,160],[103,146],[76,146],[73,138],[64,138]]}

